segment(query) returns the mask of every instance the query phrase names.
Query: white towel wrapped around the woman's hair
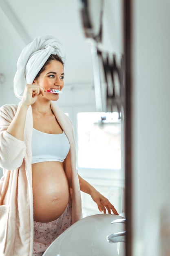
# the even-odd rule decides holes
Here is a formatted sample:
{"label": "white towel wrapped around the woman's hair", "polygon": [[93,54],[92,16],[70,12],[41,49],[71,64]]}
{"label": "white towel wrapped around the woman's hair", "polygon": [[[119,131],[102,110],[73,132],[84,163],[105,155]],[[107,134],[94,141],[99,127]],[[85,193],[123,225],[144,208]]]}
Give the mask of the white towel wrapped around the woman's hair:
{"label": "white towel wrapped around the woman's hair", "polygon": [[38,36],[22,50],[13,81],[16,97],[22,99],[25,85],[33,83],[51,54],[57,54],[65,61],[64,48],[53,36]]}

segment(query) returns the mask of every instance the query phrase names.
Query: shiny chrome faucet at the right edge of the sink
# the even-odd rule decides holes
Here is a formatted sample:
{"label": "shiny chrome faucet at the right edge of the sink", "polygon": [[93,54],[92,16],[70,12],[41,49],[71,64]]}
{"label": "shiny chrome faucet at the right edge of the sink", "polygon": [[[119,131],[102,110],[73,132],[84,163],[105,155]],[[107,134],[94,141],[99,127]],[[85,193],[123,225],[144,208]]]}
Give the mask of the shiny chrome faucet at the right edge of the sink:
{"label": "shiny chrome faucet at the right edge of the sink", "polygon": [[[111,224],[113,224],[113,223],[124,223],[125,224],[126,218],[113,220],[111,222]],[[117,233],[107,236],[107,241],[109,243],[126,242],[126,231],[117,232]]]}

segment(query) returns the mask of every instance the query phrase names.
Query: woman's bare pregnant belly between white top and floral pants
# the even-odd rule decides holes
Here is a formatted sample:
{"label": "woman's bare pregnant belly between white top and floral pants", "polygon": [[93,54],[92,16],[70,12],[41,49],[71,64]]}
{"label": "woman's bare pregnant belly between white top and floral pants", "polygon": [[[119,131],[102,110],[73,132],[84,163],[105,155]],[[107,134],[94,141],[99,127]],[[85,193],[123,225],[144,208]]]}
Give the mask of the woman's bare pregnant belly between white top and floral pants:
{"label": "woman's bare pregnant belly between white top and floral pants", "polygon": [[69,199],[69,187],[63,163],[32,164],[34,220],[50,222],[59,218]]}

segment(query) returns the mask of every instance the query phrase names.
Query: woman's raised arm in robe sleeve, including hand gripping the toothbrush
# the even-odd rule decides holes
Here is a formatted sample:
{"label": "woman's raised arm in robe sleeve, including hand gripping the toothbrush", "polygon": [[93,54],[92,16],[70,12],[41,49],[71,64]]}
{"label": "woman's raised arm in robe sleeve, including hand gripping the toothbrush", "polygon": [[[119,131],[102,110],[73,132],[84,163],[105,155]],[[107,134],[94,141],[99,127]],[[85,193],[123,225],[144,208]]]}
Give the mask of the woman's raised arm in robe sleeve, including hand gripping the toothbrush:
{"label": "woman's raised arm in robe sleeve, including hand gripping the toothbrush", "polygon": [[26,85],[20,106],[6,105],[0,108],[0,167],[14,170],[21,166],[25,153],[24,126],[26,112],[38,95],[44,93],[39,85]]}

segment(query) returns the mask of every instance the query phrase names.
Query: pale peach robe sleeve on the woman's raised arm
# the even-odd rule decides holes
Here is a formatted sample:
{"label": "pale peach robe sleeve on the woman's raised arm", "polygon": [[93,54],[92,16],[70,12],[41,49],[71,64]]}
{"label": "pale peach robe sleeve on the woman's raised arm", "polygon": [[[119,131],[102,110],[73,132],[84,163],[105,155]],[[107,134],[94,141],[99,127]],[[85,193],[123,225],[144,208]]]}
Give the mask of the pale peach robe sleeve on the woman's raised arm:
{"label": "pale peach robe sleeve on the woman's raised arm", "polygon": [[19,168],[26,153],[25,142],[7,132],[17,107],[17,105],[4,105],[0,108],[0,167],[7,170]]}

